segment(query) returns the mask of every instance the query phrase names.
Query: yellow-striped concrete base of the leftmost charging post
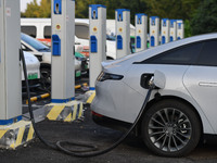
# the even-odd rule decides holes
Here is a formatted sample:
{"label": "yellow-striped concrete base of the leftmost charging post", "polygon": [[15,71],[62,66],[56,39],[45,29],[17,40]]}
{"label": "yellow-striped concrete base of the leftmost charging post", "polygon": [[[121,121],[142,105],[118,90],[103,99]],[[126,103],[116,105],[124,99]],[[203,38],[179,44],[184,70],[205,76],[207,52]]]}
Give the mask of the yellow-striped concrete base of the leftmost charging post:
{"label": "yellow-striped concrete base of the leftmost charging post", "polygon": [[3,149],[15,149],[34,139],[34,137],[35,131],[29,121],[0,126],[0,148]]}

